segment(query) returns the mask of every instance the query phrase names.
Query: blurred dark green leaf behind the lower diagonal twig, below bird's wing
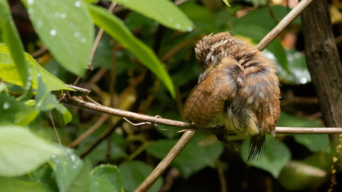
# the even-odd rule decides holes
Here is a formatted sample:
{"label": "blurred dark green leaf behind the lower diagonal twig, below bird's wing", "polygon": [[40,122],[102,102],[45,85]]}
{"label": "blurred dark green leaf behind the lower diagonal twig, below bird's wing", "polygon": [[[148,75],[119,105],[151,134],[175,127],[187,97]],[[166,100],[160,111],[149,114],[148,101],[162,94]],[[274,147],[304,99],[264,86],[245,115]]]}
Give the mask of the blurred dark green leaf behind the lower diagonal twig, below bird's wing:
{"label": "blurred dark green leaf behind the lower diagonal twig, below bird's wing", "polygon": [[[159,159],[163,159],[177,141],[177,139],[160,139],[150,143],[146,151]],[[188,178],[202,168],[215,167],[216,158],[222,152],[223,144],[216,137],[196,134],[172,162],[172,166],[178,168],[181,174]]]}

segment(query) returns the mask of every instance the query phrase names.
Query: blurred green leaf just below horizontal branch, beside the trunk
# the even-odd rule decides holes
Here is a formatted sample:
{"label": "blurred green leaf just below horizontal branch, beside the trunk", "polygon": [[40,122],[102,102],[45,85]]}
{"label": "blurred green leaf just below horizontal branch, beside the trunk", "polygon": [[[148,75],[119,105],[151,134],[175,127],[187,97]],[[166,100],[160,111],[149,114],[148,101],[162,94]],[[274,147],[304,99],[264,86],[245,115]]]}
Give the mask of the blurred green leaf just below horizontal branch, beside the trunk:
{"label": "blurred green leaf just below horizontal branch, beside the trunk", "polygon": [[293,135],[294,139],[312,152],[330,151],[328,135]]}

